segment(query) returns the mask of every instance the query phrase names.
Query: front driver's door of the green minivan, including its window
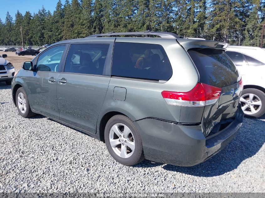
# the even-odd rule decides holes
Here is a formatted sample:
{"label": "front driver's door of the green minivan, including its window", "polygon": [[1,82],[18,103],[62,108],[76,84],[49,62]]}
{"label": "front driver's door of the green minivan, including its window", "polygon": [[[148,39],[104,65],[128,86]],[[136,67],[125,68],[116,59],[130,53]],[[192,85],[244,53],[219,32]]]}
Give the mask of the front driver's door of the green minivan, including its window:
{"label": "front driver's door of the green minivan, including its window", "polygon": [[[61,71],[61,59],[66,45],[59,45],[40,54],[34,71],[29,74],[28,88],[30,106],[47,117],[59,120],[56,86]],[[61,54],[57,61],[50,61],[55,54]]]}

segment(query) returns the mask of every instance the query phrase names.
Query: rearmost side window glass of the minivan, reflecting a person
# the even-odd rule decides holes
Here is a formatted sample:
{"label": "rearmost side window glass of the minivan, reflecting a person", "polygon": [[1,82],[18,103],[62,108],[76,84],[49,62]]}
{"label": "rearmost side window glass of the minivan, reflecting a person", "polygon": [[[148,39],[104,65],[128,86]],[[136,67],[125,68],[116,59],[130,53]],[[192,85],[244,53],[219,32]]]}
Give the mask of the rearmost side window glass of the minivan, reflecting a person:
{"label": "rearmost side window glass of the minivan, reflecting a person", "polygon": [[115,43],[111,75],[168,80],[172,68],[161,45],[145,43]]}

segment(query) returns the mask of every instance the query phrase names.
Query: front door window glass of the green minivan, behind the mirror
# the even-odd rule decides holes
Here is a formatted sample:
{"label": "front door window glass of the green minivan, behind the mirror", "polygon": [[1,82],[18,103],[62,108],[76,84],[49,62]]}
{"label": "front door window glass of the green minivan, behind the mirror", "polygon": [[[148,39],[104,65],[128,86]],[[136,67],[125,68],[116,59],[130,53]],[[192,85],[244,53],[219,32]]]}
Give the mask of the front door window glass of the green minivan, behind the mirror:
{"label": "front door window glass of the green minivan, behind the mirror", "polygon": [[37,71],[59,72],[59,65],[65,45],[56,46],[40,54],[37,61]]}

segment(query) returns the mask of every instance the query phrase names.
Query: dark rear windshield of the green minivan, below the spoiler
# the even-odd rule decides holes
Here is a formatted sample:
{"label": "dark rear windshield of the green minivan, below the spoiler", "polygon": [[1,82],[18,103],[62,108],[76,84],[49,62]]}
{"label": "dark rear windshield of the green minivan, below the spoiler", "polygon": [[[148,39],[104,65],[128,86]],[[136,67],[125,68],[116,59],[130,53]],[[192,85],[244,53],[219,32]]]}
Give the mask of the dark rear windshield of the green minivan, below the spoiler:
{"label": "dark rear windshield of the green minivan, below the spoiler", "polygon": [[188,53],[199,71],[200,83],[225,87],[239,80],[238,71],[224,50],[193,48]]}

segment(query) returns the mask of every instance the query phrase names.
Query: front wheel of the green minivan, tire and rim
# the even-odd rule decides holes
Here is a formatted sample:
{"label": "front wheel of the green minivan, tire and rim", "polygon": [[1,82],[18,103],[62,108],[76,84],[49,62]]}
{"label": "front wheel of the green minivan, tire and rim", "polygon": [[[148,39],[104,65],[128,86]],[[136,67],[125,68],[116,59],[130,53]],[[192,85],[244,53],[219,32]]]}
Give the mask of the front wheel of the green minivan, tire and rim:
{"label": "front wheel of the green minivan, tire and rim", "polygon": [[35,115],[30,109],[29,100],[23,87],[20,87],[16,93],[16,104],[19,114],[24,118],[30,118]]}

